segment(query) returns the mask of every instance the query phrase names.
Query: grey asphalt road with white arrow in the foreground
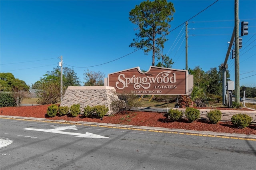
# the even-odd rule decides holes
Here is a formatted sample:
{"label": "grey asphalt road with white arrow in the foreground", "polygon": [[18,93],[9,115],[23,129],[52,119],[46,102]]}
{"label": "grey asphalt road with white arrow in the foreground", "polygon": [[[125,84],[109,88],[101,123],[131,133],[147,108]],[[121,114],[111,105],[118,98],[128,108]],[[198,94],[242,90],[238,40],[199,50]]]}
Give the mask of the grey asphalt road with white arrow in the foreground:
{"label": "grey asphalt road with white arrow in the foreground", "polygon": [[1,170],[255,170],[256,141],[1,119]]}

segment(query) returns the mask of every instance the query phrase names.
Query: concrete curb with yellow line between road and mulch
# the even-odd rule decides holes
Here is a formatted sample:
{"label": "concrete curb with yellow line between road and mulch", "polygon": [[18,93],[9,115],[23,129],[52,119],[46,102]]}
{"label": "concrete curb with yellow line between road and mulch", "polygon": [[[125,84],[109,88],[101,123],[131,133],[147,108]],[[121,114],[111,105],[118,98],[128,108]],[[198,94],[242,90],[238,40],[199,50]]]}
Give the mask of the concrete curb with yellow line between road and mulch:
{"label": "concrete curb with yellow line between road and mulch", "polygon": [[146,127],[146,126],[119,125],[119,124],[111,124],[111,123],[84,122],[84,121],[74,122],[74,121],[66,121],[66,120],[49,120],[45,118],[20,117],[20,116],[1,115],[0,118],[24,119],[24,120],[32,120],[32,121],[48,121],[48,122],[56,122],[56,123],[72,123],[72,124],[92,125],[92,126],[95,125],[95,126],[102,126],[102,127],[140,129],[140,130],[158,131],[158,132],[173,132],[173,133],[180,133],[180,134],[196,134],[198,136],[212,136],[212,137],[226,136],[228,138],[256,140],[256,135],[254,134],[247,135],[247,134],[234,134],[234,133],[222,133],[222,132],[211,132],[211,131],[196,131],[196,130],[186,130],[186,129],[170,129],[170,128],[162,128],[162,127]]}

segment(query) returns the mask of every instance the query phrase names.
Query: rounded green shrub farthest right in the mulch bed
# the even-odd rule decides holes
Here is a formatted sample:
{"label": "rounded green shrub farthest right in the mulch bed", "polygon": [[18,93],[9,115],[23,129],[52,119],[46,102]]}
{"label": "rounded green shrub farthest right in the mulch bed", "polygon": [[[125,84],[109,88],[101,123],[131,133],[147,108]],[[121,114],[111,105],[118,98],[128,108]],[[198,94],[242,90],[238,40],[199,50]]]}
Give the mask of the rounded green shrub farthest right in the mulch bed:
{"label": "rounded green shrub farthest right in the mulch bed", "polygon": [[231,122],[238,128],[245,128],[252,123],[252,117],[245,114],[236,114],[231,117]]}

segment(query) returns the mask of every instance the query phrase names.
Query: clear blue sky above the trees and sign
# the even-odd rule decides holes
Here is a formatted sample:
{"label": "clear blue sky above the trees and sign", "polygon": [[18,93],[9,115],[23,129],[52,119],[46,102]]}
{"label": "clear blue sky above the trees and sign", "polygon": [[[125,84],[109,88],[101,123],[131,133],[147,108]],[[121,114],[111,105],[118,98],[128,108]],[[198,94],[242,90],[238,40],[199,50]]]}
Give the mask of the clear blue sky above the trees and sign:
{"label": "clear blue sky above the trees and sign", "polygon": [[[73,68],[82,82],[87,69],[105,77],[133,67],[148,70],[151,54],[129,47],[137,28],[129,21],[129,12],[141,2],[1,0],[0,72],[10,72],[32,85],[58,67],[61,55],[63,67]],[[168,2],[176,10],[171,31],[215,1]],[[240,49],[240,86],[256,87],[255,0],[239,1],[239,19],[249,22],[249,34],[243,36]],[[184,25],[171,31],[164,44],[163,53],[172,58],[174,69],[186,68]],[[189,20],[188,67],[218,68],[224,62],[233,28],[234,0],[219,0]],[[234,59],[228,59],[228,69],[234,81]]]}

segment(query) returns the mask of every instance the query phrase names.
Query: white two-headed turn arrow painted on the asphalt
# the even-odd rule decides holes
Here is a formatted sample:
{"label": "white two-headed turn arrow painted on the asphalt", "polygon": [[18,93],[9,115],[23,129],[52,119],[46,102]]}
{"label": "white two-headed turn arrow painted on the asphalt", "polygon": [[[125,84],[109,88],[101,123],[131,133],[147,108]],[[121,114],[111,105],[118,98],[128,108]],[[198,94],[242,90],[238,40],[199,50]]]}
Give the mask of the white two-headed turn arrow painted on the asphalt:
{"label": "white two-headed turn arrow painted on the asphalt", "polygon": [[50,133],[59,133],[59,134],[70,134],[70,135],[74,135],[77,138],[108,138],[105,136],[100,136],[98,134],[93,134],[89,132],[86,132],[85,134],[83,134],[83,133],[60,131],[60,130],[66,130],[66,129],[77,130],[76,126],[55,127],[54,129],[24,128],[24,130],[34,130],[34,131],[40,131],[40,132],[50,132]]}

